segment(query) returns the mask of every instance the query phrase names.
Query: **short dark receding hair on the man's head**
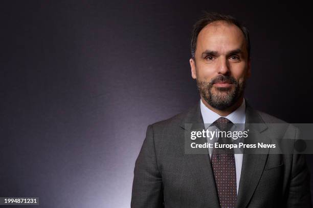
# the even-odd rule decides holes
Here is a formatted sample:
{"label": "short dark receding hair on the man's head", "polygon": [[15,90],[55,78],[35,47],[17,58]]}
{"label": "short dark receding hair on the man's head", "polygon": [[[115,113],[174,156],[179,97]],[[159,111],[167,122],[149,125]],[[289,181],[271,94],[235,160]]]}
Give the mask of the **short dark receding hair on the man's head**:
{"label": "short dark receding hair on the man's head", "polygon": [[205,12],[205,14],[193,25],[192,35],[191,35],[191,58],[194,59],[197,38],[200,31],[206,27],[206,25],[215,21],[225,21],[230,24],[236,25],[243,33],[245,41],[247,43],[248,59],[250,59],[250,38],[249,31],[245,28],[237,19],[230,15],[223,15],[216,12]]}

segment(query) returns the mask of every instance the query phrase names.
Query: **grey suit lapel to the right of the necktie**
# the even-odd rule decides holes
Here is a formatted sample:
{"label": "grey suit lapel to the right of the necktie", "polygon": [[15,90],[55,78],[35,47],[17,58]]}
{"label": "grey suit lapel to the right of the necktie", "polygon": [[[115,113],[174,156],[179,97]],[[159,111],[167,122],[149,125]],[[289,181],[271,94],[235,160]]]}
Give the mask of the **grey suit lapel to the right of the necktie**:
{"label": "grey suit lapel to the right of the necktie", "polygon": [[[249,143],[264,142],[270,144],[271,139],[261,134],[267,128],[266,124],[247,102],[245,115],[245,129],[249,129]],[[254,194],[263,172],[269,149],[264,149],[261,154],[256,154],[253,151],[253,149],[244,149],[237,196],[237,207],[240,208],[246,207]]]}

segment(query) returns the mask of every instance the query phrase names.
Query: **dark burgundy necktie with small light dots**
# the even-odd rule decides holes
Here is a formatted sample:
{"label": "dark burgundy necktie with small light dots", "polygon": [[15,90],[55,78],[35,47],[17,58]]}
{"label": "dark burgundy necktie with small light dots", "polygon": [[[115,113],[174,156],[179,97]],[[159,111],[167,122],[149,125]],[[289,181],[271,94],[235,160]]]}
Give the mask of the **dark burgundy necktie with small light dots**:
{"label": "dark burgundy necktie with small light dots", "polygon": [[[220,117],[213,124],[220,131],[228,131],[232,122]],[[230,144],[231,138],[219,138],[218,143]],[[221,208],[234,208],[237,202],[236,164],[234,149],[213,149],[212,169]]]}

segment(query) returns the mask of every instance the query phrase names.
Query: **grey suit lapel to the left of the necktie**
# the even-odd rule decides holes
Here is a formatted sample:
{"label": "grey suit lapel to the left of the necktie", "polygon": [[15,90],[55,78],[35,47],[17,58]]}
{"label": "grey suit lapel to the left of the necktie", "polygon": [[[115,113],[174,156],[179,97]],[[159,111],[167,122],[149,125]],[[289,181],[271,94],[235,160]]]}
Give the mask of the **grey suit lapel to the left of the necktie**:
{"label": "grey suit lapel to the left of the necktie", "polygon": [[[186,124],[192,124],[187,127]],[[204,129],[203,118],[200,111],[200,105],[198,103],[189,113],[186,118],[181,123],[181,127],[185,131],[195,131],[196,129]],[[197,181],[197,186],[199,187],[199,192],[203,196],[199,196],[204,201],[204,205],[210,205],[210,207],[219,207],[218,195],[215,186],[215,180],[213,176],[213,171],[210,162],[210,155],[207,154],[186,154],[185,153],[185,139],[181,144],[181,149],[184,151],[185,160],[187,166],[189,167],[195,181]],[[206,139],[201,141],[203,143],[207,142]]]}

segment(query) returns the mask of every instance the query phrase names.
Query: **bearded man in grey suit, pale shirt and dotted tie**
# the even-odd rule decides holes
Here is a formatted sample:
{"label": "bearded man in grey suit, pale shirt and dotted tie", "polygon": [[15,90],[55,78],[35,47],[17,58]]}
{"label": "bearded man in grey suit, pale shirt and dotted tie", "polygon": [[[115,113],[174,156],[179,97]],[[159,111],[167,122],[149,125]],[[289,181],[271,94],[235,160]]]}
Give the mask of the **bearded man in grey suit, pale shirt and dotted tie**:
{"label": "bearded man in grey suit, pale shirt and dotted tie", "polygon": [[[269,144],[298,137],[295,127],[253,110],[244,100],[250,40],[237,20],[207,13],[194,25],[191,54],[200,102],[187,113],[148,126],[135,165],[131,207],[311,207],[309,172],[301,154],[239,154],[218,148],[186,153],[186,132],[198,123],[220,130],[226,124],[257,124],[250,125],[252,137]],[[285,124],[275,128],[270,123]]]}

